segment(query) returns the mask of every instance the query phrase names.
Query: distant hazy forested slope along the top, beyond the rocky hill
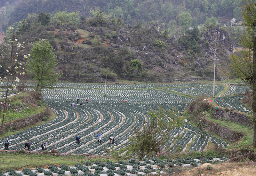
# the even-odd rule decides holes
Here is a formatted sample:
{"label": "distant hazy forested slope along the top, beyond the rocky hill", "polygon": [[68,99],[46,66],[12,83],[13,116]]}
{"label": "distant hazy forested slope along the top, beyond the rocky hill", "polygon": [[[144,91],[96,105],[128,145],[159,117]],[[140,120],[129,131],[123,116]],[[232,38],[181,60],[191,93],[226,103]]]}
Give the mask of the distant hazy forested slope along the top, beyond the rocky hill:
{"label": "distant hazy forested slope along the top, beyond the rocky hill", "polygon": [[[192,17],[190,25],[204,23],[206,18],[216,17],[221,25],[230,23],[232,18],[242,20],[239,5],[242,0],[2,0],[0,21],[5,25],[27,18],[28,13],[58,11],[80,12],[85,18],[91,10],[99,8],[105,14],[121,17],[126,24],[156,21],[166,26],[183,17]],[[1,2],[2,2],[1,1]],[[6,4],[6,2],[8,2]],[[11,5],[10,5],[11,4]],[[2,7],[2,8],[3,8]],[[187,22],[187,21],[186,21]],[[3,25],[3,24],[2,24]],[[188,24],[189,26],[189,24]]]}

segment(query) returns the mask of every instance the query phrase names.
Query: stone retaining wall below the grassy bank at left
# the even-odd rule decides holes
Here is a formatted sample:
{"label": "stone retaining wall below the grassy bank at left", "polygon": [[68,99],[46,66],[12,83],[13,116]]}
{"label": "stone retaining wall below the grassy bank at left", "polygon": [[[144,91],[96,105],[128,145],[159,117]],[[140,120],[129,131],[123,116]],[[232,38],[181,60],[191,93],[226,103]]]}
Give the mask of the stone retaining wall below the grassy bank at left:
{"label": "stone retaining wall below the grassy bank at left", "polygon": [[42,112],[40,114],[36,114],[34,116],[31,116],[31,117],[18,119],[18,120],[12,121],[12,122],[6,122],[3,125],[1,133],[4,133],[4,132],[6,132],[9,129],[18,130],[18,129],[20,129],[23,126],[33,125],[33,124],[36,124],[37,122],[42,122],[42,118],[44,116],[45,116],[45,113]]}

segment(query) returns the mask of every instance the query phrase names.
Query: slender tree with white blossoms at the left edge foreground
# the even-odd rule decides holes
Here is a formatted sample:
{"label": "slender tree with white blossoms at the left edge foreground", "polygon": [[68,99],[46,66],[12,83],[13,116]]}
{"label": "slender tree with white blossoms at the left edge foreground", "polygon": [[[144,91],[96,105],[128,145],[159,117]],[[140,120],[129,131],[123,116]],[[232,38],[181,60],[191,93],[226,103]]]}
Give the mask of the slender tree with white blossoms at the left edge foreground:
{"label": "slender tree with white blossoms at the left edge foreground", "polygon": [[[22,64],[17,60],[19,54],[21,53],[21,50],[24,48],[24,42],[22,44],[19,42],[17,43],[18,39],[14,37],[13,28],[10,27],[10,30],[11,30],[10,44],[3,43],[4,44],[3,51],[0,51],[1,61],[4,59],[9,61],[6,70],[4,70],[3,74],[0,76],[0,83],[1,84],[3,84],[3,82],[6,83],[6,92],[4,96],[4,102],[1,102],[2,104],[4,104],[4,108],[1,112],[2,123],[0,126],[0,133],[2,133],[6,105],[7,105],[7,102],[9,101],[7,99],[8,92],[11,90],[14,90],[16,88],[16,83],[20,82],[20,79],[18,76],[25,74],[25,72],[23,72],[24,68],[22,68]],[[10,55],[7,54],[8,52],[10,52]],[[27,58],[27,57],[28,57],[27,55],[24,55],[24,58]],[[0,67],[2,68],[2,65],[0,65]],[[0,95],[3,95],[2,92],[0,92]]]}

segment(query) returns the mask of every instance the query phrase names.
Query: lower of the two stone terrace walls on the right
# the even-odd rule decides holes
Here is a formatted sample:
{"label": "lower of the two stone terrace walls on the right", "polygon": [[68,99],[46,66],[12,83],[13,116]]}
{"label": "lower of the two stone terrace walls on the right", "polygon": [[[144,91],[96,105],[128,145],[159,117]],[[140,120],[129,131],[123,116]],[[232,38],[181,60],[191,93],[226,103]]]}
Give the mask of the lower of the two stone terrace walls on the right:
{"label": "lower of the two stone terrace walls on the right", "polygon": [[223,127],[220,124],[211,122],[206,119],[203,120],[203,123],[207,125],[207,131],[213,132],[221,138],[233,143],[239,141],[244,136],[244,134],[242,134],[241,132],[235,132],[228,127]]}

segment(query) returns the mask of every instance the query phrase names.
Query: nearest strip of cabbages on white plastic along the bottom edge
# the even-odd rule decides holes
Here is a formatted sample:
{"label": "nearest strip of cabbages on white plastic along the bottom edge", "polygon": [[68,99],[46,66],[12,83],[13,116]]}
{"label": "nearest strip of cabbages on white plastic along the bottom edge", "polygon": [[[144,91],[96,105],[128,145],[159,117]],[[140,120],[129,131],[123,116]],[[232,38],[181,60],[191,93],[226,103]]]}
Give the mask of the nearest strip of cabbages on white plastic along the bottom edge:
{"label": "nearest strip of cabbages on white plastic along the bottom edge", "polygon": [[[200,156],[196,158],[186,157],[184,159],[165,159],[152,158],[148,160],[144,158],[142,161],[130,159],[128,162],[119,160],[117,163],[112,161],[106,162],[91,162],[85,161],[83,163],[77,163],[75,166],[68,166],[65,164],[49,165],[47,168],[37,167],[36,169],[23,168],[21,171],[15,171],[14,169],[7,169],[1,175],[29,175],[29,176],[44,176],[44,175],[102,175],[102,176],[114,176],[114,175],[146,175],[146,174],[169,174],[173,172],[182,171],[185,168],[191,168],[200,165]],[[225,161],[226,158],[213,158],[212,156],[205,156],[205,163],[219,163]]]}

